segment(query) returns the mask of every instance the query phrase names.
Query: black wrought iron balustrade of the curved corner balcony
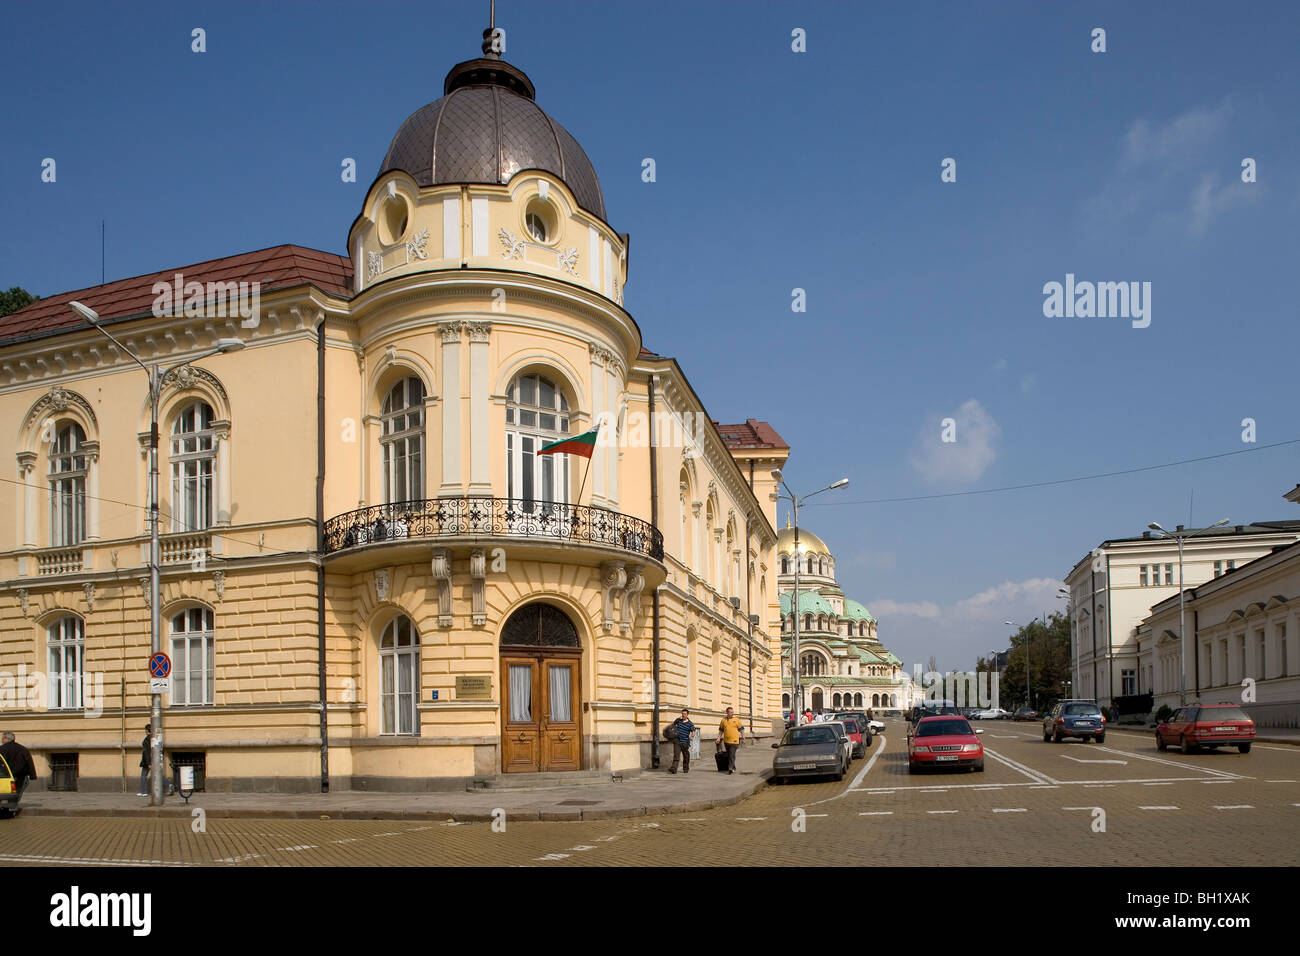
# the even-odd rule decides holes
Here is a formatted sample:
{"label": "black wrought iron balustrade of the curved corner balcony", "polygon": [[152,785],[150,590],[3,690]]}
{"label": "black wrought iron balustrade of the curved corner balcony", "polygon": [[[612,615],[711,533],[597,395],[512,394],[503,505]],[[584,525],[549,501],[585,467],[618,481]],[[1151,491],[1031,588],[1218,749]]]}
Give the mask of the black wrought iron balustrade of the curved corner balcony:
{"label": "black wrought iron balustrade of the curved corner balcony", "polygon": [[520,498],[424,498],[372,505],[325,522],[324,554],[380,541],[439,537],[529,537],[597,544],[663,561],[663,533],[603,507]]}

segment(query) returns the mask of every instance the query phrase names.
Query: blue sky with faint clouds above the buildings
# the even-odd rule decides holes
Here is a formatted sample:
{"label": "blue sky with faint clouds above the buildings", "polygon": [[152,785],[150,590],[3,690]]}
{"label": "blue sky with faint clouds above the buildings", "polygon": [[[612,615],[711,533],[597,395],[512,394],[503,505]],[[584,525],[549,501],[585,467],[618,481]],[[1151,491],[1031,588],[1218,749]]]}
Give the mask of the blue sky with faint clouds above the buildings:
{"label": "blue sky with faint clouds above the buildings", "polygon": [[[98,284],[101,219],[108,280],[342,252],[486,9],[6,5],[0,287]],[[855,503],[1243,450],[1245,418],[1256,446],[1300,438],[1296,5],[502,0],[498,23],[632,235],[646,345],[714,418],[771,421],[796,489],[850,477],[803,524],[909,667],[1005,645],[1102,538],[1190,523],[1192,492],[1197,524],[1300,518],[1297,445]],[[1044,317],[1066,273],[1150,282],[1149,328]]]}

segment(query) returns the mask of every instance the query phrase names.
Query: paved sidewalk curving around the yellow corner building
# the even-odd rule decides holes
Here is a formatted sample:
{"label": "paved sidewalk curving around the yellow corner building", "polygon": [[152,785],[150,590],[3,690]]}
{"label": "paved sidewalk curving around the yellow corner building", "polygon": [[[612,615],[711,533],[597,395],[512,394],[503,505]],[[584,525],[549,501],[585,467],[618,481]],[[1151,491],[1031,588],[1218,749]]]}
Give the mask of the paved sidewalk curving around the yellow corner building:
{"label": "paved sidewalk curving around the yellow corner building", "polygon": [[679,769],[673,775],[667,773],[671,752],[664,747],[664,769],[641,770],[623,783],[439,793],[195,793],[188,805],[181,796],[169,796],[164,806],[150,806],[147,797],[134,793],[27,791],[22,814],[188,819],[198,806],[213,818],[490,821],[499,808],[515,821],[611,819],[729,806],[753,795],[772,775],[771,739],[742,747],[734,774],[718,773],[712,749],[712,743],[705,741],[690,773]]}

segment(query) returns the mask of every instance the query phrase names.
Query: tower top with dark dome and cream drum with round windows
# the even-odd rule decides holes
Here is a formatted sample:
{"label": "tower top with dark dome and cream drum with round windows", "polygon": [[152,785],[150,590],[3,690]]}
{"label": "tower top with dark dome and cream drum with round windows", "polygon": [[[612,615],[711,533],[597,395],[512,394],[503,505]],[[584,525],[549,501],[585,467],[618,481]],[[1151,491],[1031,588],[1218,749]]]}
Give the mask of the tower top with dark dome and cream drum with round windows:
{"label": "tower top with dark dome and cream drum with round windows", "polygon": [[529,272],[623,304],[627,237],[582,147],[493,49],[398,129],[348,237],[356,291],[438,269]]}

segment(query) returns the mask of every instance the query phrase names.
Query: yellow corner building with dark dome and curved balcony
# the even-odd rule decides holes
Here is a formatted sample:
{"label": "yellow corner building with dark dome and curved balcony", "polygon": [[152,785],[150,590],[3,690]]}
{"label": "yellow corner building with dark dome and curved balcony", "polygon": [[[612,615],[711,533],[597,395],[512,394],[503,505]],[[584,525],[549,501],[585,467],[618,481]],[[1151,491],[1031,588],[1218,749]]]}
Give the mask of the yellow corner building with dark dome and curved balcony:
{"label": "yellow corner building with dark dome and curved balcony", "polygon": [[[770,732],[789,449],[644,347],[595,170],[489,43],[398,130],[347,250],[0,319],[5,728],[64,783],[134,779],[157,601],[165,747],[208,790],[646,766],[656,706]],[[127,351],[169,369],[157,596]],[[540,454],[597,428],[590,466]]]}

